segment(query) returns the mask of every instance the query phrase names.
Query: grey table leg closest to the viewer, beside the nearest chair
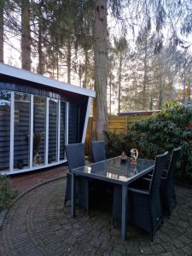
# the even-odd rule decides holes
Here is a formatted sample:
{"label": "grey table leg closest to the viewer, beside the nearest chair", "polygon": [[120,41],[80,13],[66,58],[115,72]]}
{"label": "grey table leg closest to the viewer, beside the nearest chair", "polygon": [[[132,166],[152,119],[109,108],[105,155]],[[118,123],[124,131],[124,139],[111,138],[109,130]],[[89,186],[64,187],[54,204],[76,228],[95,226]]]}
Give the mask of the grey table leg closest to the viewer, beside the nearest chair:
{"label": "grey table leg closest to the viewer, beside the nearest chair", "polygon": [[127,233],[127,186],[122,185],[121,238],[126,240]]}

